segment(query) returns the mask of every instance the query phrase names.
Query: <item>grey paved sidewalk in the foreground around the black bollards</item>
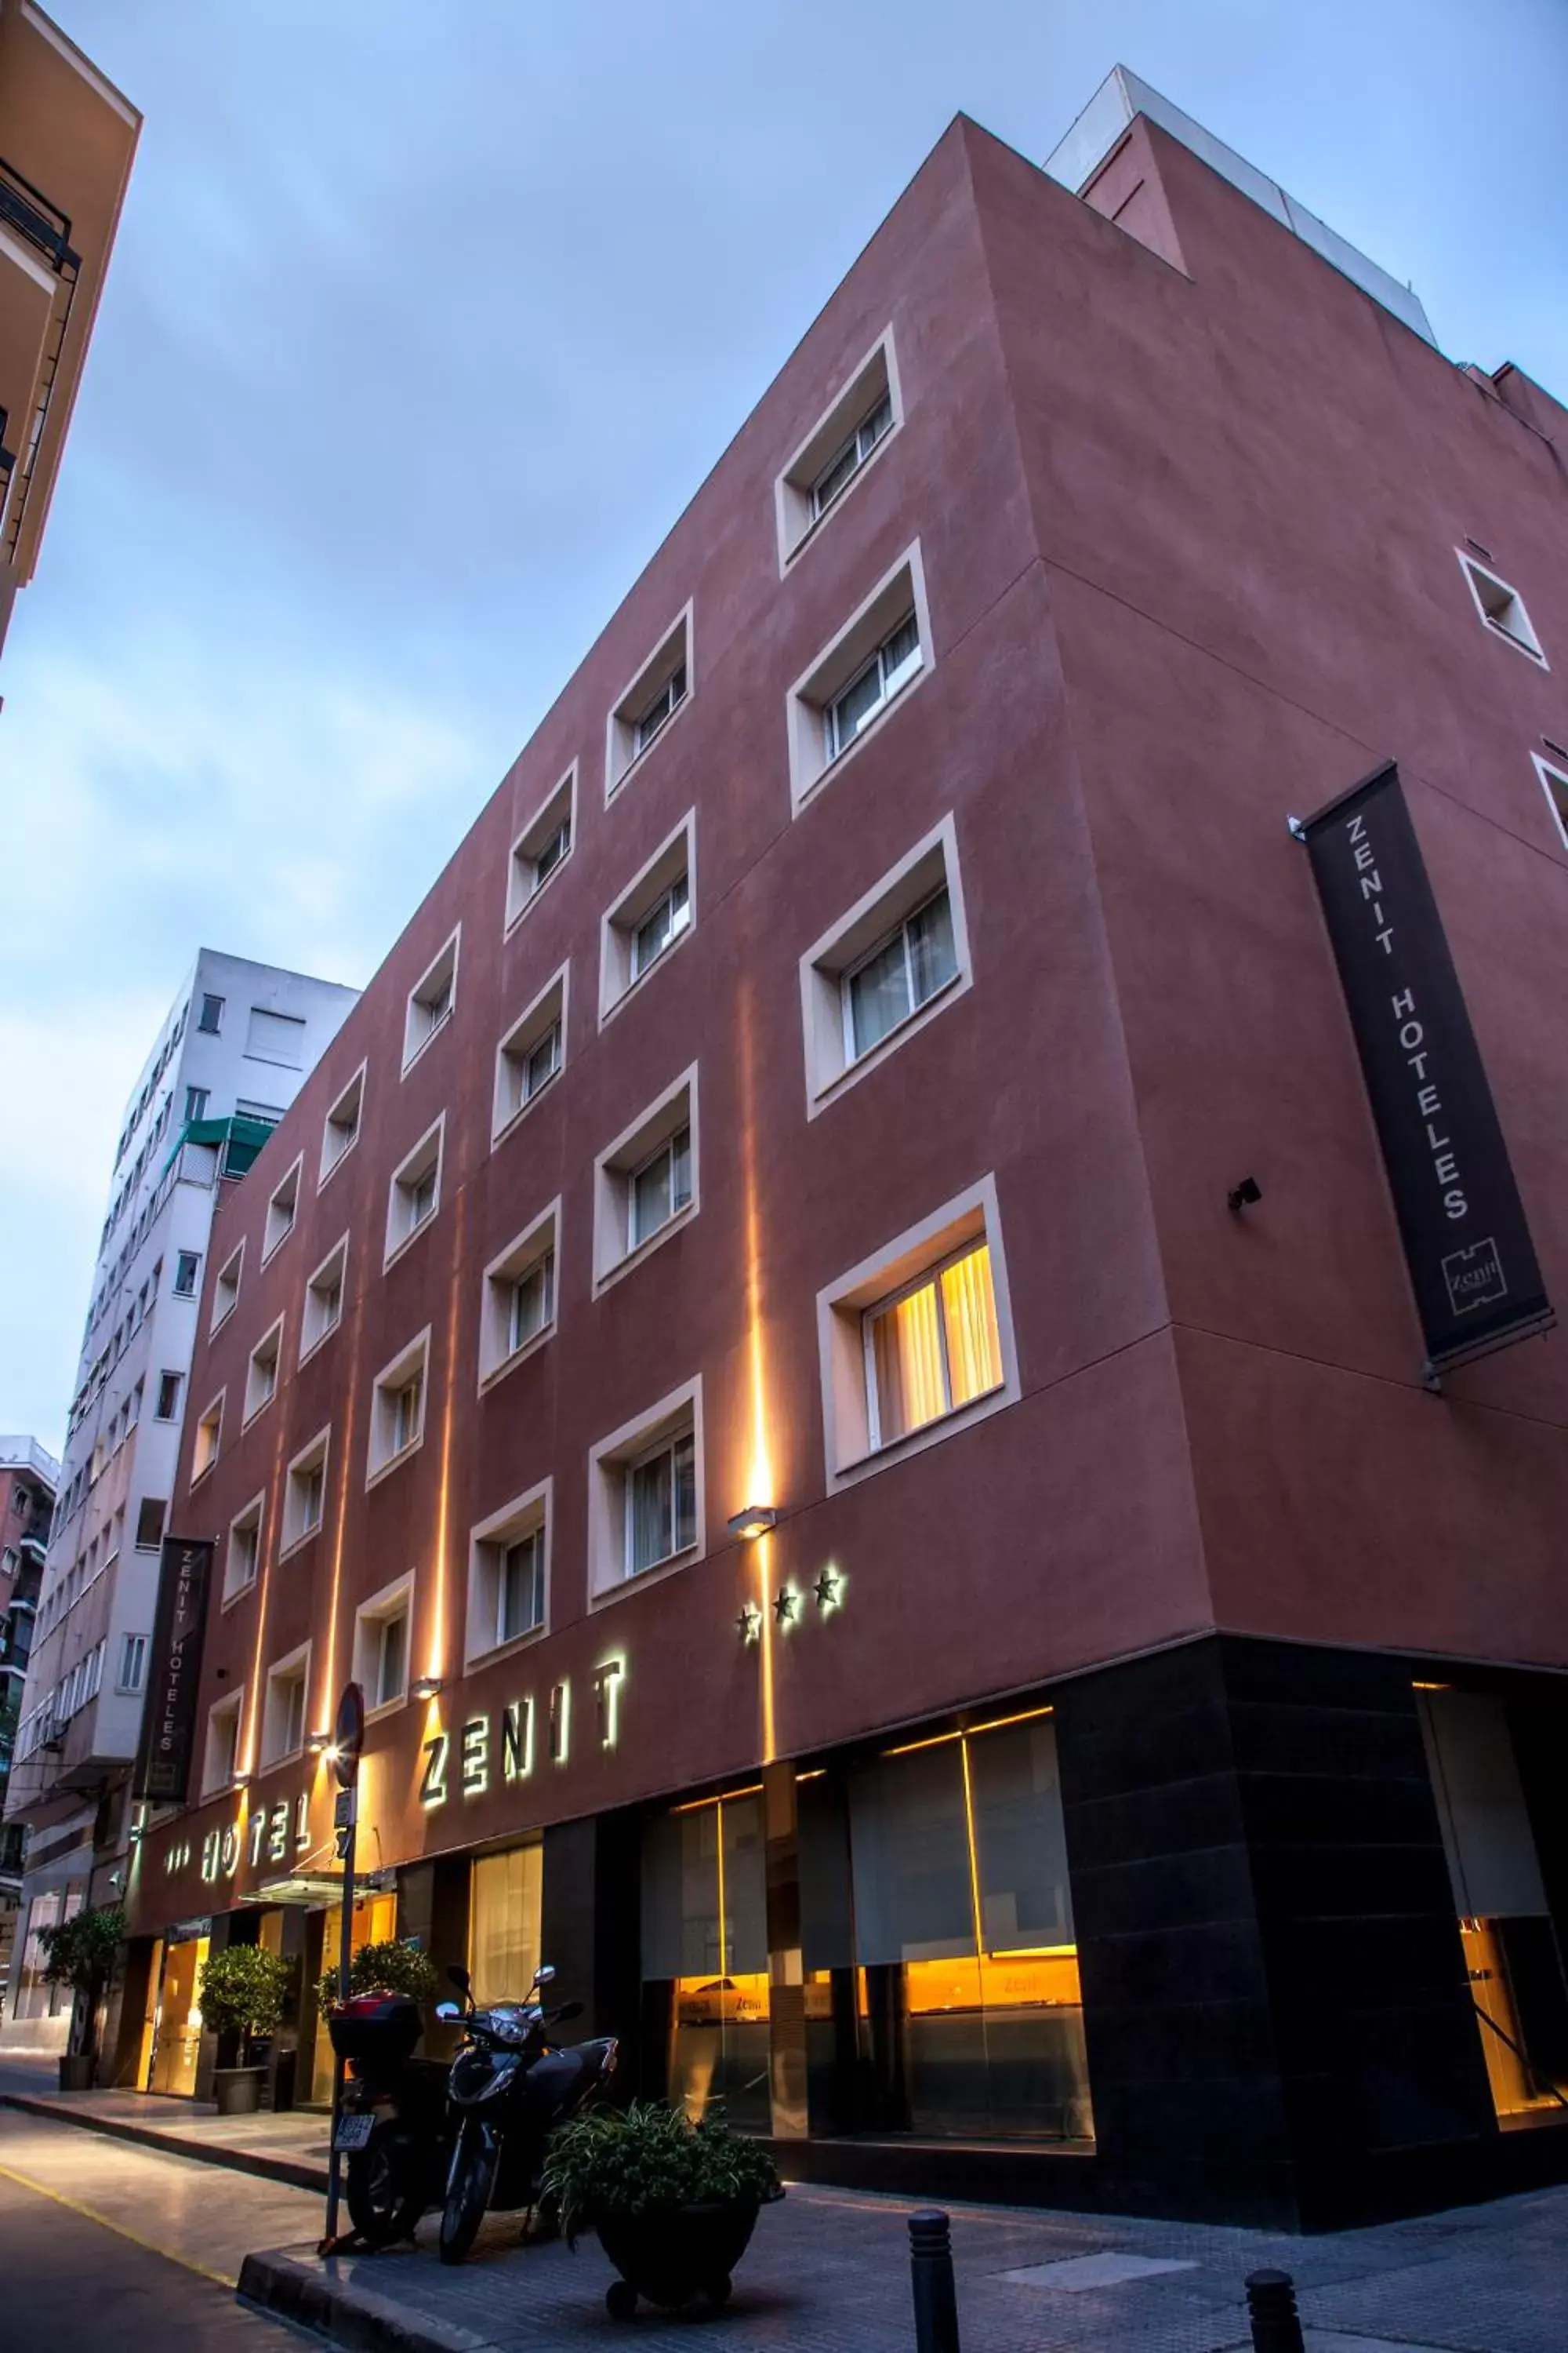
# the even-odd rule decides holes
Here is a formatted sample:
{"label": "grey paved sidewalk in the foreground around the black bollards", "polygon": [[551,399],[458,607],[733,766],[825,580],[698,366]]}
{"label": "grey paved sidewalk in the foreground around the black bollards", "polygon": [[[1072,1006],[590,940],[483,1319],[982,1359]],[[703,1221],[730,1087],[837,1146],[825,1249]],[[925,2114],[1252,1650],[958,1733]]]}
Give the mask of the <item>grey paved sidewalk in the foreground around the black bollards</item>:
{"label": "grey paved sidewalk in the foreground around the black bollards", "polygon": [[[736,2271],[715,2341],[729,2353],[912,2353],[910,2200],[792,2188]],[[1222,2353],[1248,2346],[1244,2280],[1298,2282],[1312,2353],[1561,2353],[1568,2344],[1568,2188],[1420,2221],[1284,2238],[1197,2224],[950,2207],[964,2353]],[[517,2247],[517,2217],[484,2224],[444,2268],[411,2249],[252,2257],[242,2294],[341,2344],[402,2353],[543,2353],[689,2346],[689,2320],[604,2311],[614,2278],[595,2240]]]}

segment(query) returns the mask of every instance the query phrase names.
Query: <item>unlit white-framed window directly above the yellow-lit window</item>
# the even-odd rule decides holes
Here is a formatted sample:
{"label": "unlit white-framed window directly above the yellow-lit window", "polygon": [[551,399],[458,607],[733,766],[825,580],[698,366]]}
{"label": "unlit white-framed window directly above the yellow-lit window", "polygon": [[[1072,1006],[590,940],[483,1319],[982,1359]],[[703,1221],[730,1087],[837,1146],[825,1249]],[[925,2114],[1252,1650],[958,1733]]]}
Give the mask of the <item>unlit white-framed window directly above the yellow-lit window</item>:
{"label": "unlit white-framed window directly above the yellow-lit window", "polygon": [[799,960],[806,1115],[971,981],[957,831],[945,816]]}

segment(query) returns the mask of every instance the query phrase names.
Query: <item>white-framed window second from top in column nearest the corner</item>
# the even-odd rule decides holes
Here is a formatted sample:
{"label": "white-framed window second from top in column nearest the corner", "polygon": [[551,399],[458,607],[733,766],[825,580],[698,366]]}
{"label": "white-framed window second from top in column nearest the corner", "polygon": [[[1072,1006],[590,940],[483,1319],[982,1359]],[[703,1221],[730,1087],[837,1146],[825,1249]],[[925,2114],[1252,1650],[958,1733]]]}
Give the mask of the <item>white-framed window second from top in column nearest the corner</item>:
{"label": "white-framed window second from top in column nearest the corner", "polygon": [[795,809],[882,725],[929,668],[931,614],[917,541],[790,689]]}

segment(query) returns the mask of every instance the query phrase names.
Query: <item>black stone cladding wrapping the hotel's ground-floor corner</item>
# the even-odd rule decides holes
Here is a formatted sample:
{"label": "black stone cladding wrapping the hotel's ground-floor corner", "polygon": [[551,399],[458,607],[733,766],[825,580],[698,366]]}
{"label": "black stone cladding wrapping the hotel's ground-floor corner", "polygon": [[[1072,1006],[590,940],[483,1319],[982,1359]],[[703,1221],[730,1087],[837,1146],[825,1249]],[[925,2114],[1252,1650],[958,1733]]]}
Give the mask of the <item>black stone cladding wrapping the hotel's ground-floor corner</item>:
{"label": "black stone cladding wrapping the hotel's ground-floor corner", "polygon": [[1568,2167],[1493,2120],[1408,1661],[1215,1635],[1056,1725],[1110,2205],[1316,2231]]}

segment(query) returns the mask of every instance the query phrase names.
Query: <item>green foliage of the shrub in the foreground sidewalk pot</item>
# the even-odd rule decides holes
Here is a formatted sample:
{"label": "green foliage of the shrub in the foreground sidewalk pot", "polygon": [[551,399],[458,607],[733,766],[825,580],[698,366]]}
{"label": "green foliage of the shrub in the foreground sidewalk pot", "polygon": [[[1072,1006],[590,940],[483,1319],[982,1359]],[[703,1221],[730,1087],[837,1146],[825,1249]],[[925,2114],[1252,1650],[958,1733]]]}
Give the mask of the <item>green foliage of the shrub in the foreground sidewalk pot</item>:
{"label": "green foliage of the shrub in the foreground sidewalk pot", "polygon": [[717,2111],[635,2099],[630,2108],[574,2115],[550,2141],[541,2195],[559,2207],[569,2245],[604,2214],[658,2214],[682,2205],[762,2205],[778,2198],[766,2148],[731,2132]]}

